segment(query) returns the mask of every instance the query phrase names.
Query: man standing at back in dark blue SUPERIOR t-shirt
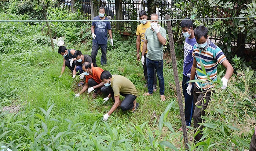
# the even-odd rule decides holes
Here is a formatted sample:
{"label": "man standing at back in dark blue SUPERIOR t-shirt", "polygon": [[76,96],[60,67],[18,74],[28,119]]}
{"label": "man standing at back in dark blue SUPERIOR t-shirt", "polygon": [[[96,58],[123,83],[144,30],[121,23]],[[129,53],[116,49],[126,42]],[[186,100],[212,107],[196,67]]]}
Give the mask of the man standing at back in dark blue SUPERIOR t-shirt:
{"label": "man standing at back in dark blue SUPERIOR t-shirt", "polygon": [[98,54],[98,49],[101,47],[101,65],[107,63],[107,42],[108,36],[110,36],[110,44],[113,46],[113,38],[111,25],[107,17],[105,17],[105,9],[103,7],[99,8],[99,15],[94,17],[93,20],[104,20],[104,21],[93,21],[91,24],[91,34],[93,38],[93,46],[91,51],[91,57],[96,62],[96,56]]}

